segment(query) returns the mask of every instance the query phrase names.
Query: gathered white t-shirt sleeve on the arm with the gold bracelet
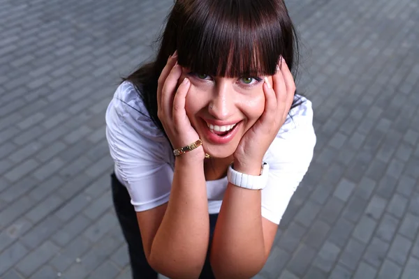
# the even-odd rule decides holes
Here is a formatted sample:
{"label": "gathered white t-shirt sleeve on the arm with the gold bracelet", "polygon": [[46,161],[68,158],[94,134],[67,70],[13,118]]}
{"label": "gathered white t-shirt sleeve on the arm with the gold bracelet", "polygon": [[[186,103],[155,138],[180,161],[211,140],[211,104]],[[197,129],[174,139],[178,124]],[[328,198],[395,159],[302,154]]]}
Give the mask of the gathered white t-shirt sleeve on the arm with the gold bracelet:
{"label": "gathered white t-shirt sleeve on the arm with the gold bracelet", "polygon": [[135,211],[168,202],[173,177],[170,144],[149,118],[132,84],[124,82],[118,87],[105,119],[115,171]]}

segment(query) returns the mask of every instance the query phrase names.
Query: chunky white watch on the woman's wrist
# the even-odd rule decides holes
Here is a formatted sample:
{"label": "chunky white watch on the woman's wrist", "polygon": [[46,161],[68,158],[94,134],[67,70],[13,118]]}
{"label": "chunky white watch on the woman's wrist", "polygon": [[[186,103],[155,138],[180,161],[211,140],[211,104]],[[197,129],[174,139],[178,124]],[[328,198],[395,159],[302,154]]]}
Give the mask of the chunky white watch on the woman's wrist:
{"label": "chunky white watch on the woman's wrist", "polygon": [[242,174],[233,169],[233,164],[228,167],[227,180],[235,186],[247,188],[251,190],[260,190],[265,188],[267,184],[267,176],[269,174],[269,165],[262,164],[260,175]]}

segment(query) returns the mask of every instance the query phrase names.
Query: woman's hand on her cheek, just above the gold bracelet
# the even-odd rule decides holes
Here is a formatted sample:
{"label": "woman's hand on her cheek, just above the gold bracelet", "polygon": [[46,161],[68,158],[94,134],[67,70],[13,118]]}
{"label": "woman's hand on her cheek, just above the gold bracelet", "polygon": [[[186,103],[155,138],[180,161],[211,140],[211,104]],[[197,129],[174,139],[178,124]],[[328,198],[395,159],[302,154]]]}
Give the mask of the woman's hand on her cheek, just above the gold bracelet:
{"label": "woman's hand on her cheek, just above the gold bracelet", "polygon": [[[174,149],[187,146],[199,139],[185,110],[186,94],[191,86],[191,81],[185,77],[176,89],[181,75],[182,67],[177,64],[177,52],[175,52],[173,56],[169,57],[168,63],[161,71],[157,84],[157,116],[159,116]],[[198,146],[192,151],[179,155],[182,158],[191,156],[203,160],[205,158],[203,146]]]}

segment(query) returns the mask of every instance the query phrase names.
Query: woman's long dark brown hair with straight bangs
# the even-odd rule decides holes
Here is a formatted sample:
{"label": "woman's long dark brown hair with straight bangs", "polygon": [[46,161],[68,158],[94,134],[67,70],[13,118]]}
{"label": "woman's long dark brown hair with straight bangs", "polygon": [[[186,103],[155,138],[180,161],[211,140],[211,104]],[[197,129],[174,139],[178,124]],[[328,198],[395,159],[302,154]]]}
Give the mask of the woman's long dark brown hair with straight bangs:
{"label": "woman's long dark brown hair with straight bangs", "polygon": [[[155,61],[126,77],[141,92],[154,123],[157,80],[168,56],[194,73],[212,76],[274,75],[283,56],[294,75],[297,38],[283,0],[177,0],[166,19]],[[295,98],[293,107],[299,105]]]}

